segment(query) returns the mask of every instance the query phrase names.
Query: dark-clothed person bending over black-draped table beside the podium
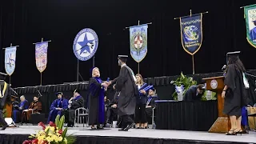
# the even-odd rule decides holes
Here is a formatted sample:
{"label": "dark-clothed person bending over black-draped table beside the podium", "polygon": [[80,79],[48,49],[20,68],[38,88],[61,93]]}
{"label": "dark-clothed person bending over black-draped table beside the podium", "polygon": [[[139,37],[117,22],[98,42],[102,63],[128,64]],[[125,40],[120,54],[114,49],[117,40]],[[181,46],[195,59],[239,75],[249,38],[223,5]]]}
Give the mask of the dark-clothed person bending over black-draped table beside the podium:
{"label": "dark-clothed person bending over black-draped table beside the podium", "polygon": [[184,96],[184,101],[200,101],[203,95],[205,87],[203,84],[198,86],[190,86]]}

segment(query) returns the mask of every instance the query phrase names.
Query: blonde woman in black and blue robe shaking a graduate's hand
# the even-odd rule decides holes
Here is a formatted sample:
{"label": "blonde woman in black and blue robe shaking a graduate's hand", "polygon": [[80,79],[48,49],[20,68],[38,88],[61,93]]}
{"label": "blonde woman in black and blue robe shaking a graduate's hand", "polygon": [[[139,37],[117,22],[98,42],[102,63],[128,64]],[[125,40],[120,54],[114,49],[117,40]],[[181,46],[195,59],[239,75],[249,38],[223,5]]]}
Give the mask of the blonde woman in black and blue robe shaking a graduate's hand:
{"label": "blonde woman in black and blue robe shaking a graduate's hand", "polygon": [[[89,125],[92,130],[102,129],[102,124],[105,124],[105,90],[109,86],[109,82],[102,82],[98,67],[90,69],[92,78],[89,81]],[[95,125],[97,127],[95,127]]]}

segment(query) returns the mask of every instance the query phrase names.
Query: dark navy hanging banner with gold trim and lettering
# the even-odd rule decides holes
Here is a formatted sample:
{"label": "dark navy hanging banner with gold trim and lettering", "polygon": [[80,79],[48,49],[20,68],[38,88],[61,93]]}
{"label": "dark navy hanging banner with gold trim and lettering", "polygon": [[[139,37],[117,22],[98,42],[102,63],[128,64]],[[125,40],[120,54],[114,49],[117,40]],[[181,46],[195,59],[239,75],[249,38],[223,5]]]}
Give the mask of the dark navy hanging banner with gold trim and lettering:
{"label": "dark navy hanging banner with gold trim and lettering", "polygon": [[202,14],[180,18],[183,49],[191,55],[198,52],[202,45]]}

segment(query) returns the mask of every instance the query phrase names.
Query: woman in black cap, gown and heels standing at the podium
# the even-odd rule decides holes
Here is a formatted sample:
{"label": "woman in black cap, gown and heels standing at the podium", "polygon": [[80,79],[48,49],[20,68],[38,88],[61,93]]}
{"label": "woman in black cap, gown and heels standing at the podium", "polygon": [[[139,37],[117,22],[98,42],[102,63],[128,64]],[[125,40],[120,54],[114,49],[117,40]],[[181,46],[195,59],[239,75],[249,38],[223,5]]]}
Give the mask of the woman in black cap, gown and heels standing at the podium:
{"label": "woman in black cap, gown and heels standing at the podium", "polygon": [[246,71],[238,54],[232,52],[227,54],[227,70],[225,74],[222,98],[225,99],[223,113],[230,116],[231,129],[227,135],[242,134],[241,114],[242,106],[250,103],[246,96],[246,88],[243,83],[243,73]]}

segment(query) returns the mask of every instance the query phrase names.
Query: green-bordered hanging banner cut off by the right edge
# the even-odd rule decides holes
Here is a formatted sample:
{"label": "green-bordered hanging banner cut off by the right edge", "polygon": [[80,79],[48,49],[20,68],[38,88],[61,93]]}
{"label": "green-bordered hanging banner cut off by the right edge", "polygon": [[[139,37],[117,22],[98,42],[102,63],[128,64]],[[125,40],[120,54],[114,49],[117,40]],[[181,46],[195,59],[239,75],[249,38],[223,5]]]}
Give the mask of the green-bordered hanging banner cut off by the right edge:
{"label": "green-bordered hanging banner cut off by the right edge", "polygon": [[256,48],[256,5],[244,7],[246,18],[246,39]]}

